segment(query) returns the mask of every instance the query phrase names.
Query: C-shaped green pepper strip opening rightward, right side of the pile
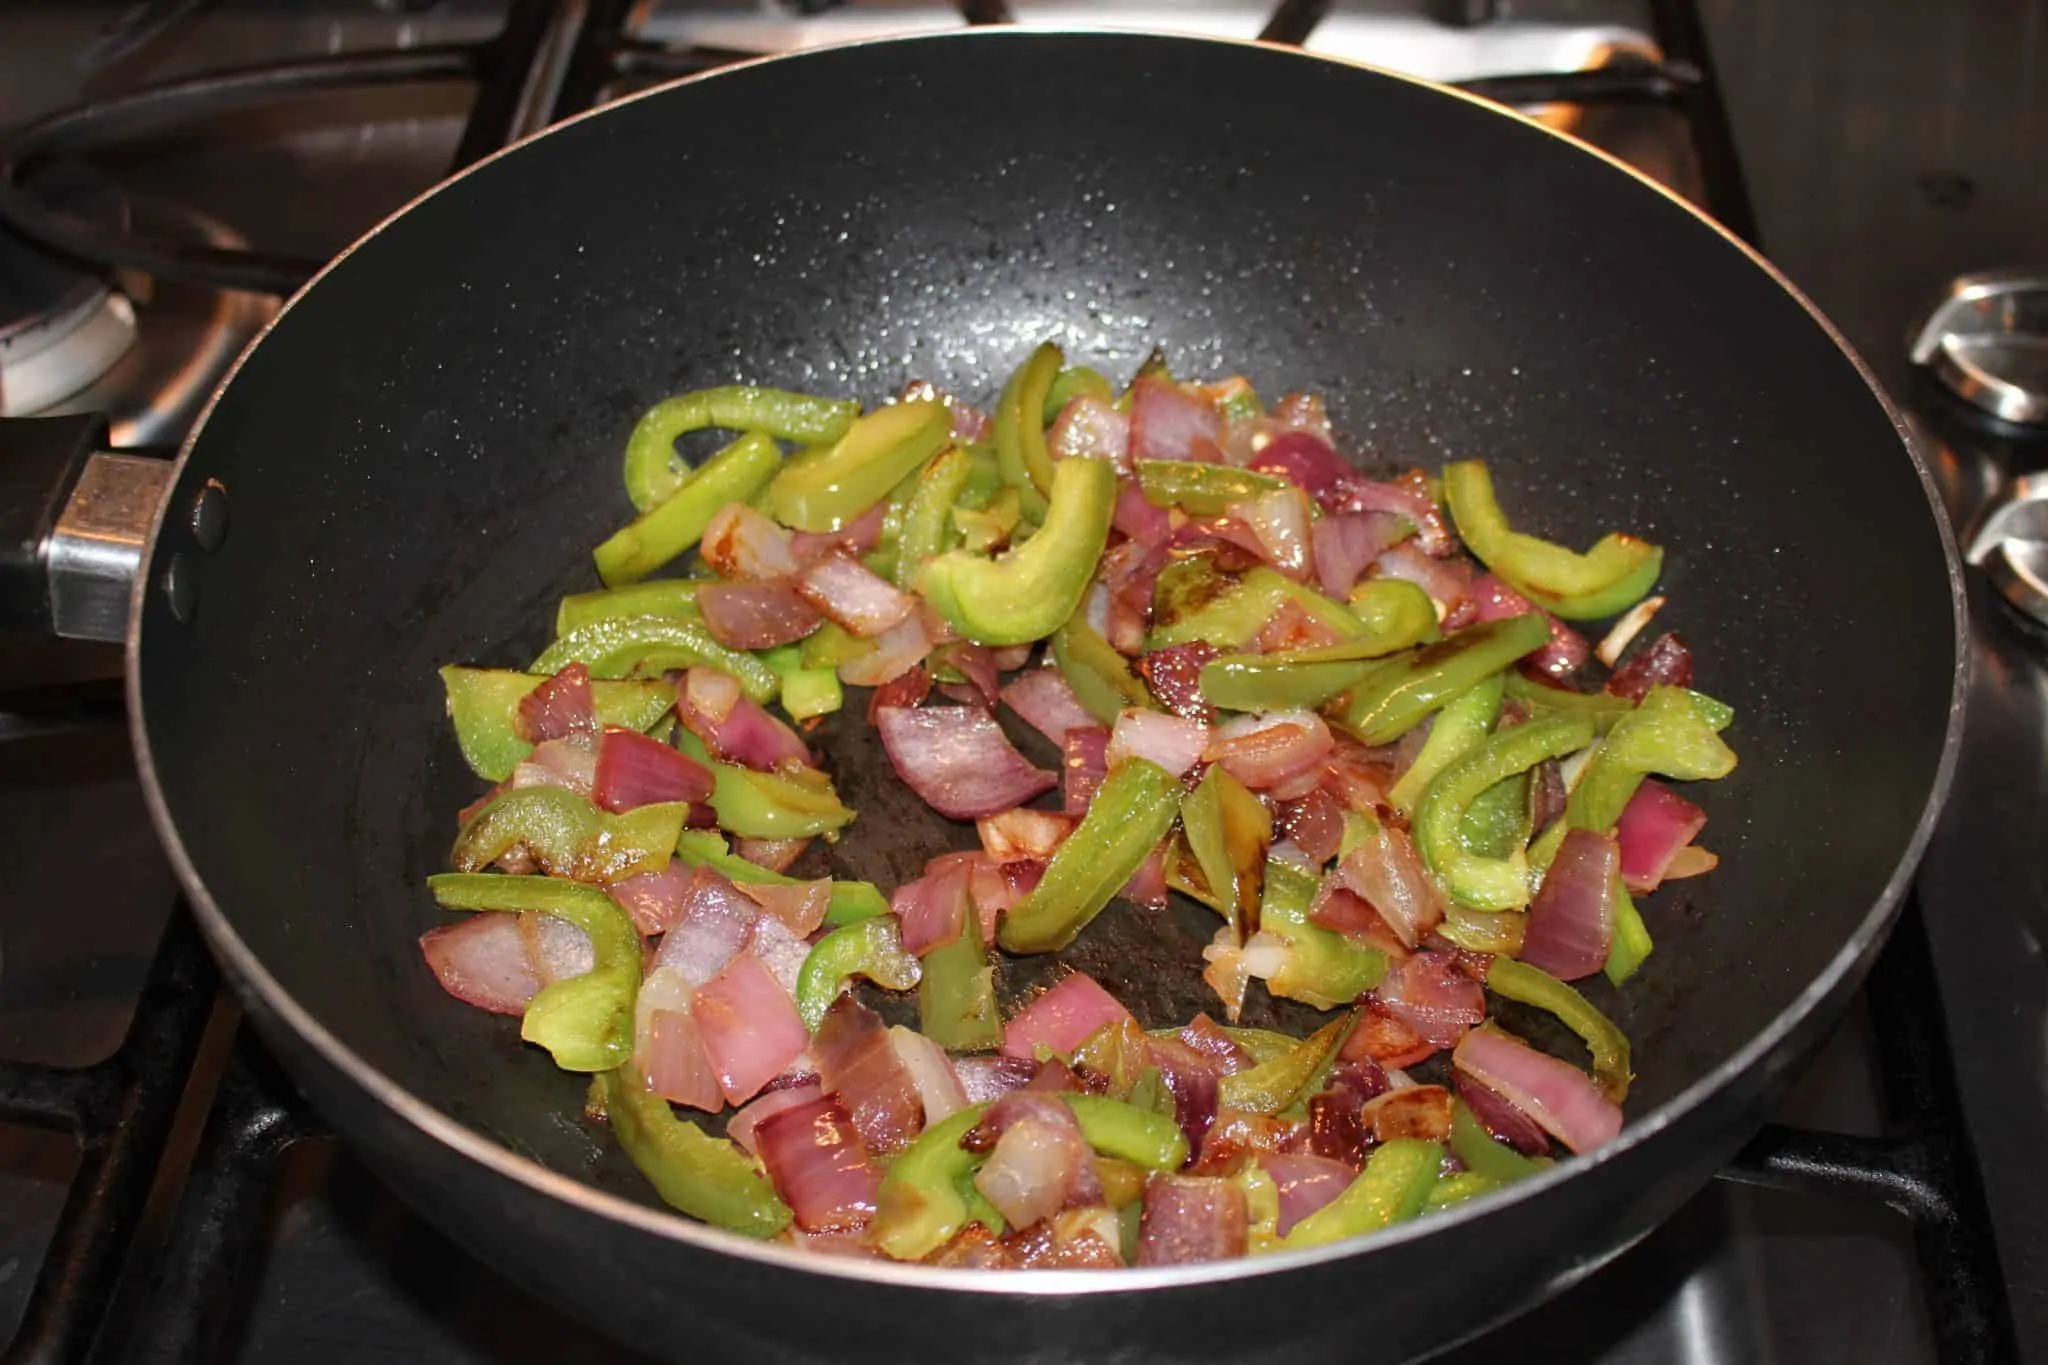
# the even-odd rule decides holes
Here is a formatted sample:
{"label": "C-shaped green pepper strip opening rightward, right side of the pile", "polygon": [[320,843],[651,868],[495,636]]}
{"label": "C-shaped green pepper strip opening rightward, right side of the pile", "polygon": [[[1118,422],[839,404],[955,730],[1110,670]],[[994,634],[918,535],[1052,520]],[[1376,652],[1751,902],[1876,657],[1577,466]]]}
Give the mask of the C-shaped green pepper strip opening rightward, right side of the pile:
{"label": "C-shaped green pepper strip opening rightward, right side of the pile", "polygon": [[[1516,620],[1542,620],[1518,616]],[[1544,759],[1593,743],[1593,722],[1567,716],[1530,720],[1501,731],[1436,776],[1415,806],[1415,845],[1438,884],[1475,911],[1516,911],[1530,902],[1530,864],[1518,847],[1507,857],[1481,857],[1458,841],[1458,825],[1481,792]]]}

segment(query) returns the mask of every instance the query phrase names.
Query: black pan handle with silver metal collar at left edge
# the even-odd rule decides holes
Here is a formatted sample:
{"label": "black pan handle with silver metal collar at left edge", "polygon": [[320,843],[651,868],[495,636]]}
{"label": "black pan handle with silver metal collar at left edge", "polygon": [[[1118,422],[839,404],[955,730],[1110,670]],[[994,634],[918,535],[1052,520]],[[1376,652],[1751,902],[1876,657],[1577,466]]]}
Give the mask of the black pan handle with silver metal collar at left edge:
{"label": "black pan handle with silver metal collar at left edge", "polygon": [[121,641],[170,460],[106,448],[100,417],[0,422],[0,630]]}

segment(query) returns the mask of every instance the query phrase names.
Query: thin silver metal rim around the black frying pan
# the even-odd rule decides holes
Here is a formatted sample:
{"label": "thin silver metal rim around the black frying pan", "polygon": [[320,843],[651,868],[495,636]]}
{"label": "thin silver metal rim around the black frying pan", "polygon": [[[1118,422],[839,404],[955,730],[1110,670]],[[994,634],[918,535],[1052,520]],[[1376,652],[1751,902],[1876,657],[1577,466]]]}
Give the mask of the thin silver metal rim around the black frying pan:
{"label": "thin silver metal rim around the black frying pan", "polygon": [[[1919,477],[1921,491],[1927,497],[1929,516],[1933,516],[1935,532],[1942,544],[1942,559],[1948,575],[1950,589],[1950,614],[1954,624],[1952,647],[1954,647],[1954,681],[1950,688],[1948,722],[1942,739],[1942,755],[1935,763],[1933,782],[1927,790],[1927,800],[1915,821],[1913,833],[1901,851],[1898,862],[1892,868],[1890,878],[1878,892],[1872,907],[1858,921],[1855,929],[1835,952],[1833,958],[1815,974],[1815,978],[1776,1015],[1763,1029],[1759,1029],[1747,1044],[1737,1048],[1718,1066],[1696,1078],[1692,1085],[1681,1089],[1677,1095],[1657,1105],[1647,1115],[1640,1115],[1632,1124],[1622,1128],[1622,1134],[1589,1156],[1573,1156],[1559,1162],[1550,1171],[1520,1181],[1507,1189],[1481,1195],[1466,1201],[1460,1207],[1432,1214],[1430,1218],[1411,1220],[1407,1224],[1397,1224],[1393,1228],[1374,1232],[1372,1236],[1352,1238],[1343,1242],[1333,1242],[1329,1246],[1319,1246],[1298,1252],[1278,1252],[1235,1261],[1214,1261],[1202,1265],[1182,1265],[1182,1267],[1126,1267],[1114,1275],[1104,1275],[1100,1271],[1034,1271],[1030,1275],[1012,1275],[999,1271],[967,1271],[967,1269],[944,1269],[913,1263],[895,1261],[866,1261],[866,1259],[846,1259],[846,1257],[819,1257],[815,1252],[803,1252],[786,1248],[774,1242],[760,1242],[735,1232],[723,1232],[707,1224],[698,1224],[684,1214],[651,1207],[639,1203],[625,1195],[614,1195],[610,1191],[588,1185],[571,1175],[557,1173],[541,1162],[520,1156],[508,1146],[487,1138],[475,1128],[457,1121],[449,1113],[440,1111],[430,1101],[412,1093],[383,1070],[375,1068],[365,1060],[354,1048],[344,1044],[336,1033],[332,1033],[324,1023],[319,1023],[299,1001],[283,988],[283,984],[268,972],[268,968],[258,960],[250,945],[236,931],[231,919],[221,911],[205,880],[199,876],[182,837],[178,835],[178,825],[172,819],[168,802],[164,800],[162,784],[156,774],[154,749],[150,745],[150,731],[143,718],[143,698],[141,698],[141,651],[143,651],[143,604],[158,571],[158,544],[162,536],[164,522],[168,520],[172,495],[166,495],[158,505],[156,518],[150,528],[150,553],[143,563],[143,571],[137,575],[131,602],[129,602],[129,632],[127,632],[127,718],[129,735],[135,747],[135,765],[141,780],[145,804],[150,808],[150,819],[156,825],[158,837],[164,843],[164,851],[182,884],[186,896],[190,898],[193,913],[205,931],[215,954],[219,954],[229,966],[229,974],[238,982],[246,982],[246,988],[254,990],[260,1005],[276,1017],[285,1027],[293,1031],[307,1048],[311,1048],[319,1058],[342,1076],[346,1076],[356,1089],[367,1093],[385,1111],[399,1117],[401,1121],[416,1128],[422,1136],[451,1148],[455,1154],[477,1162],[485,1171],[516,1181],[537,1195],[565,1201],[580,1207],[586,1214],[604,1218],[608,1222],[627,1224],[643,1234],[678,1240],[686,1244],[696,1244],[705,1250],[733,1254],[758,1265],[801,1271],[809,1275],[825,1275],[846,1281],[862,1281],[874,1285],[891,1285],[905,1289],[948,1289],[963,1293],[999,1293],[999,1295],[1020,1295],[1020,1297],[1065,1297],[1065,1295],[1116,1295],[1128,1291],[1143,1291],[1153,1287],[1192,1287],[1202,1283],[1237,1281],[1255,1275],[1280,1275],[1292,1269],[1303,1269],[1311,1265],[1321,1265],[1329,1261],[1350,1259],[1362,1252],[1395,1250],[1409,1240],[1425,1238],[1442,1228],[1462,1226],[1470,1220],[1489,1216],[1493,1209],[1507,1207],[1526,1199],[1546,1197],[1552,1189],[1559,1189],[1579,1175],[1591,1175],[1593,1171],[1614,1164],[1624,1156],[1632,1154],[1636,1148],[1653,1142],[1667,1128],[1677,1126],[1694,1111],[1706,1107],[1714,1095],[1729,1089],[1739,1076],[1755,1070],[1765,1058],[1776,1054],[1800,1027],[1812,1019],[1812,1015],[1829,1001],[1829,997],[1843,990],[1849,980],[1870,962],[1876,950],[1884,943],[1884,937],[1905,900],[1907,888],[1913,874],[1919,868],[1921,855],[1927,841],[1933,835],[1933,827],[1942,814],[1948,800],[1950,788],[1954,784],[1956,765],[1960,757],[1962,724],[1964,724],[1964,700],[1968,696],[1970,677],[1970,616],[1966,604],[1966,587],[1962,575],[1962,557],[1956,546],[1954,530],[1948,524],[1948,516],[1942,510],[1939,487],[1929,471],[1925,458],[1921,456],[1917,444],[1911,438],[1911,428],[1894,405],[1890,395],[1884,393],[1876,375],[1868,362],[1855,352],[1855,348],[1841,336],[1835,323],[1821,313],[1819,307],[1792,282],[1788,280],[1772,262],[1767,262],[1755,248],[1729,231],[1722,223],[1708,217],[1702,209],[1679,196],[1675,190],[1667,188],[1659,180],[1642,174],[1634,166],[1628,166],[1620,158],[1593,147],[1569,133],[1550,129],[1542,123],[1526,119],[1516,111],[1485,100],[1475,94],[1466,94],[1454,86],[1444,86],[1438,82],[1421,80],[1401,72],[1389,72],[1384,68],[1374,68],[1364,61],[1352,61],[1343,57],[1329,57],[1321,53],[1309,53],[1298,47],[1264,43],[1255,39],[1225,39],[1208,35],[1180,35],[1180,33],[1157,33],[1157,31],[1137,31],[1137,29],[1114,29],[1114,27],[1044,27],[1044,29],[1024,29],[1024,27],[981,27],[981,29],[958,29],[928,35],[905,35],[905,37],[877,37],[862,39],[854,43],[821,45],[813,49],[801,49],[791,53],[774,53],[764,57],[752,57],[745,61],[735,61],[713,72],[702,72],[696,76],[686,76],[680,80],[664,82],[647,90],[635,92],[612,104],[602,104],[580,115],[573,115],[561,123],[555,123],[539,133],[532,133],[516,143],[510,143],[475,164],[463,168],[461,172],[436,182],[434,186],[422,190],[406,205],[389,213],[367,233],[356,237],[348,248],[344,248],[334,260],[330,260],[311,280],[307,280],[291,299],[279,307],[276,315],[264,325],[264,329],[252,338],[244,352],[236,358],[227,377],[207,399],[195,422],[190,434],[178,448],[176,463],[170,475],[170,489],[178,487],[193,452],[205,434],[207,422],[213,415],[215,405],[221,395],[233,385],[242,366],[256,352],[258,346],[270,336],[270,329],[291,313],[291,309],[303,299],[311,289],[315,289],[332,270],[356,254],[365,244],[379,237],[387,227],[403,219],[414,207],[440,194],[449,186],[465,180],[467,176],[479,172],[494,162],[512,156],[524,145],[551,137],[563,129],[584,123],[586,119],[600,117],[612,108],[633,104],[645,98],[662,96],[676,86],[690,86],[698,82],[719,80],[723,76],[745,72],[750,68],[778,63],[778,61],[803,61],[831,57],[836,53],[858,51],[874,45],[907,47],[907,45],[952,45],[952,43],[1006,43],[1006,41],[1047,41],[1047,39],[1118,39],[1118,41],[1147,41],[1147,43],[1176,43],[1176,45],[1208,45],[1208,47],[1231,47],[1231,49],[1253,49],[1270,53],[1280,59],[1315,61],[1339,68],[1352,68],[1378,76],[1382,80],[1399,82],[1405,86],[1415,86],[1438,96],[1446,96],[1464,102],[1477,111],[1491,117],[1509,119],[1516,125],[1544,137],[1561,139],[1563,143],[1575,147],[1581,153],[1589,153],[1599,162],[1606,162],[1612,170],[1618,170],[1645,188],[1657,192],[1700,225],[1718,235],[1726,246],[1741,252],[1751,266],[1761,270],[1778,289],[1782,289],[1792,301],[1804,309],[1806,317],[1835,344],[1843,358],[1855,368],[1864,385],[1870,389],[1872,397],[1882,407],[1886,420],[1892,424],[1894,436],[1898,438],[1915,475]],[[1599,1265],[1604,1265],[1612,1254],[1606,1252],[1591,1257],[1577,1267],[1571,1267],[1561,1279],[1552,1281],[1550,1289],[1563,1287],[1563,1283],[1579,1279]],[[1548,1291],[1548,1289],[1546,1289]],[[1475,1326],[1483,1330],[1485,1324]]]}

